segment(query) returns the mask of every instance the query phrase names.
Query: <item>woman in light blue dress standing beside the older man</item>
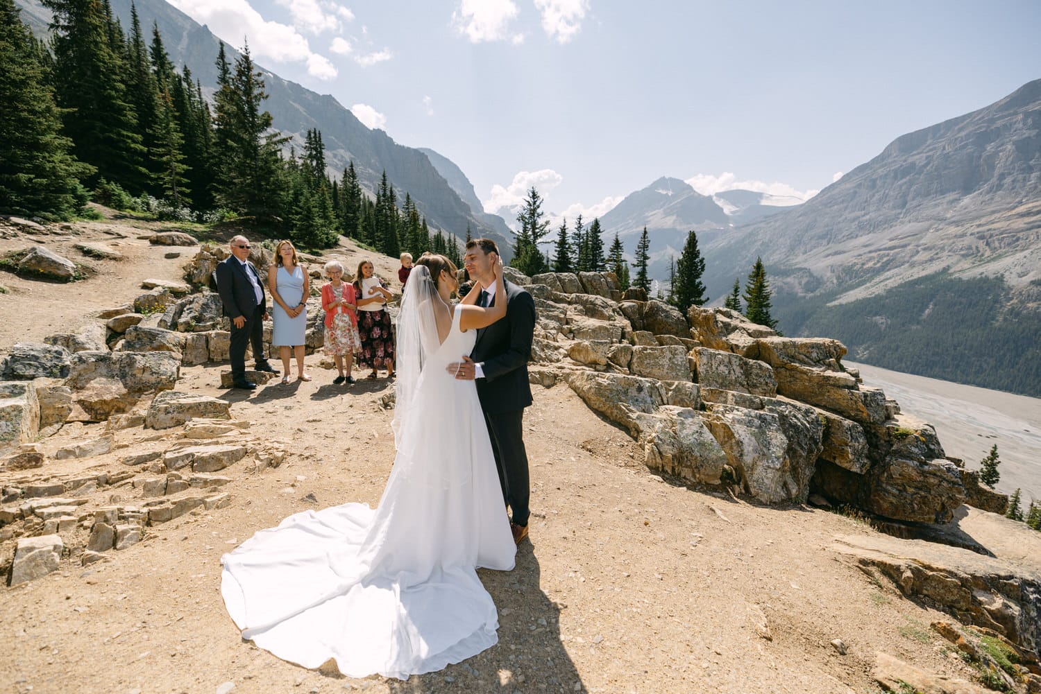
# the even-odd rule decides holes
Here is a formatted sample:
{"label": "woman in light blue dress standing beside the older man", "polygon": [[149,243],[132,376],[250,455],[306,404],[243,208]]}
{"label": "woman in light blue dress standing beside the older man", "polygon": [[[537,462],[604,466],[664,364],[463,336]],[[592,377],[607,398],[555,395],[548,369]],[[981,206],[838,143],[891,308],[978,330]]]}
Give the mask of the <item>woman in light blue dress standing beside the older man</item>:
{"label": "woman in light blue dress standing beside the older man", "polygon": [[311,285],[291,241],[279,241],[275,247],[275,264],[268,268],[268,288],[275,302],[271,344],[278,348],[282,359],[282,383],[289,382],[289,348],[297,356],[297,379],[310,381],[304,371],[304,333]]}

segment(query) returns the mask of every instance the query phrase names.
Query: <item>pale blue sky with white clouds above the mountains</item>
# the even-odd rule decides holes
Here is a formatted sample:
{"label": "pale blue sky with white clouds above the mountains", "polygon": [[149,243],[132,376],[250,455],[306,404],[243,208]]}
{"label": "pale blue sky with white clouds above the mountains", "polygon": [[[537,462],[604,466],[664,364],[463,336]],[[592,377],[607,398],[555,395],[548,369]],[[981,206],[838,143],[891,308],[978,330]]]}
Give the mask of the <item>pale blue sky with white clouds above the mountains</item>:
{"label": "pale blue sky with white clouds above the mountains", "polygon": [[807,198],[1041,78],[1041,2],[170,0],[370,127],[554,219],[661,176]]}

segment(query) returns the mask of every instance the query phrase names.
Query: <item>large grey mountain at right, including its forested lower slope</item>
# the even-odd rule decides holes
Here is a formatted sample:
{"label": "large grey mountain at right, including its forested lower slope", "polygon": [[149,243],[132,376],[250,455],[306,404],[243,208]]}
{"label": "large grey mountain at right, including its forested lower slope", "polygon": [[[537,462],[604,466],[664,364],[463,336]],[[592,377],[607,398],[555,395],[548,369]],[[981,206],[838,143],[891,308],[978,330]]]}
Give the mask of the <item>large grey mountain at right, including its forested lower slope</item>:
{"label": "large grey mountain at right, including its forested lower slope", "polygon": [[762,256],[789,334],[1041,394],[1041,80],[903,135],[806,204],[706,239],[709,293]]}

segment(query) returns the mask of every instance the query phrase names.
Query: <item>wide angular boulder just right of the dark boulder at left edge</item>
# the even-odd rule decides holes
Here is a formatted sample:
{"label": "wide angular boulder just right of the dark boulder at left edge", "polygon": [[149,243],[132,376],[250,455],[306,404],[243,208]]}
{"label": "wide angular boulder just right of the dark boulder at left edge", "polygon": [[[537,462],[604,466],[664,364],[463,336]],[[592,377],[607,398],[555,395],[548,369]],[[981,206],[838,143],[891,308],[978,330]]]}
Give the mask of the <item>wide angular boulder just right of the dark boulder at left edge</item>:
{"label": "wide angular boulder just right of the dark boulder at left edge", "polygon": [[171,352],[77,352],[66,385],[82,390],[95,379],[109,378],[133,394],[169,390],[180,376],[180,361]]}

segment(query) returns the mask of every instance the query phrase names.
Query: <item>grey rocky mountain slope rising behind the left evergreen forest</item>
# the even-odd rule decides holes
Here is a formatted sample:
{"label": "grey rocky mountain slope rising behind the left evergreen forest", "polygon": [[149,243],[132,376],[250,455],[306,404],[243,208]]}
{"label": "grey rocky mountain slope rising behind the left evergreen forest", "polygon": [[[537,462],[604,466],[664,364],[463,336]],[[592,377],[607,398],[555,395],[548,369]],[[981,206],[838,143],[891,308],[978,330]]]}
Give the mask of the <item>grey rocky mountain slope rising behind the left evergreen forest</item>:
{"label": "grey rocky mountain slope rising behind the left evergreen forest", "polygon": [[[50,10],[39,0],[18,0],[17,4],[32,30],[46,35]],[[124,28],[130,26],[130,5],[131,0],[111,1],[112,12]],[[202,82],[203,91],[211,95],[217,86],[214,61],[220,40],[207,27],[162,0],[137,0],[136,7],[146,30],[153,22],[159,27],[174,65],[178,68],[186,65]],[[230,46],[225,50],[229,61],[239,55]],[[385,171],[399,197],[403,199],[407,191],[432,228],[439,227],[462,238],[469,225],[475,236],[496,238],[508,257],[512,234],[508,229],[504,231],[505,223],[488,221],[479,205],[472,208],[463,202],[424,152],[399,145],[382,130],[365,127],[333,97],[311,92],[260,66],[258,69],[264,75],[269,95],[263,107],[271,112],[274,127],[294,135],[297,149],[303,146],[307,130],[321,130],[331,175],[338,178],[353,160],[362,186],[374,194]]]}

